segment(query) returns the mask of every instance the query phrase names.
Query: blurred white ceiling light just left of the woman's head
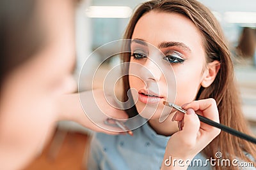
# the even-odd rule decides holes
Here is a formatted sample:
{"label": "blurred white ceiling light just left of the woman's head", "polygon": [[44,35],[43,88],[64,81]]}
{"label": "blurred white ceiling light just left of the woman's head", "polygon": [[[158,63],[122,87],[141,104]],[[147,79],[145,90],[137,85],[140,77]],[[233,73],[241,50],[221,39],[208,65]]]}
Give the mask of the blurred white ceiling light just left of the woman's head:
{"label": "blurred white ceiling light just left of the woman's head", "polygon": [[129,6],[90,6],[86,15],[90,18],[129,18],[132,9]]}

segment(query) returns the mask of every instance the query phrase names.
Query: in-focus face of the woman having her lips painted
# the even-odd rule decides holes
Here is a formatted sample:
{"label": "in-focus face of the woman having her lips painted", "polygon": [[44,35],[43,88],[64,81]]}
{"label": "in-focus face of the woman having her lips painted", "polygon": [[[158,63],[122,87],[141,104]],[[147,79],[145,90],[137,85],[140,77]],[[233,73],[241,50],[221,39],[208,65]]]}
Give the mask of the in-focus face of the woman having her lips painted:
{"label": "in-focus face of the woman having her lips painted", "polygon": [[[136,39],[156,46],[163,55]],[[195,99],[206,64],[202,35],[191,20],[177,13],[146,13],[134,28],[131,52],[129,83],[136,89],[132,97],[138,98],[140,115],[159,118],[162,111],[170,114],[163,101],[182,105]]]}

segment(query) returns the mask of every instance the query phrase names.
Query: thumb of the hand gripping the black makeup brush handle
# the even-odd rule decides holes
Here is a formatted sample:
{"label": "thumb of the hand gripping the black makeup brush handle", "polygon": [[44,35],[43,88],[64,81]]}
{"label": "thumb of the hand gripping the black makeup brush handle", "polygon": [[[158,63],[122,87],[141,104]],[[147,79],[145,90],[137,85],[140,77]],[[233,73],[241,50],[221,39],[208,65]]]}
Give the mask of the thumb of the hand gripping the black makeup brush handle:
{"label": "thumb of the hand gripping the black makeup brush handle", "polygon": [[197,133],[200,129],[200,120],[195,111],[189,108],[184,115],[184,126],[182,132],[189,141],[196,141]]}

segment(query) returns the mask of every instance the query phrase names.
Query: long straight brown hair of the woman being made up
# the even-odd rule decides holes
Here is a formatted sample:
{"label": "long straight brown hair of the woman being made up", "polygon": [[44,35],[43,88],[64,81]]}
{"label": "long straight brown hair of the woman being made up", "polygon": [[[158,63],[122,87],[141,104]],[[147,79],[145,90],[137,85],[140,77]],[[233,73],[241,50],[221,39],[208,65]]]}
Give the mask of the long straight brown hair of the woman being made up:
{"label": "long straight brown hair of the woman being made up", "polygon": [[[234,83],[234,68],[230,57],[230,52],[226,45],[223,32],[216,18],[211,11],[203,4],[195,0],[163,0],[148,1],[141,4],[132,16],[129,25],[125,31],[124,38],[131,39],[134,27],[138,20],[149,11],[159,11],[165,13],[179,13],[189,18],[198,30],[202,33],[204,41],[205,56],[207,63],[218,60],[221,63],[220,71],[211,84],[207,88],[201,87],[196,96],[198,99],[214,98],[216,100],[221,124],[227,125],[238,131],[252,134],[248,129],[248,122],[243,117],[241,110],[241,101],[239,100],[238,90]],[[125,53],[124,62],[129,62],[130,56]],[[128,68],[125,70],[128,71]],[[127,92],[129,87],[128,76],[123,77],[124,82],[124,101],[127,101]],[[127,113],[132,117],[138,114],[135,106]],[[132,115],[133,114],[133,115]],[[241,159],[252,162],[245,153],[250,153],[256,160],[256,147],[248,141],[237,138],[227,132],[221,132],[204,150],[206,157],[216,158],[216,152],[223,153],[223,159]],[[228,167],[228,169],[236,169],[237,167]],[[216,166],[216,169],[223,169]]]}

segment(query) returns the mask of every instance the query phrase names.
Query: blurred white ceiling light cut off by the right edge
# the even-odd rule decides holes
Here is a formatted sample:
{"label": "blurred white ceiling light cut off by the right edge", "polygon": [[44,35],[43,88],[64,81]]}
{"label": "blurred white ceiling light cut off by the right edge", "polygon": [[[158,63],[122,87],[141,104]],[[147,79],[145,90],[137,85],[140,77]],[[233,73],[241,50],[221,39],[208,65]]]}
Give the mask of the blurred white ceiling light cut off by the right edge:
{"label": "blurred white ceiling light cut off by the right edge", "polygon": [[255,23],[256,12],[227,11],[224,13],[225,20],[230,23]]}

